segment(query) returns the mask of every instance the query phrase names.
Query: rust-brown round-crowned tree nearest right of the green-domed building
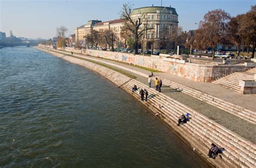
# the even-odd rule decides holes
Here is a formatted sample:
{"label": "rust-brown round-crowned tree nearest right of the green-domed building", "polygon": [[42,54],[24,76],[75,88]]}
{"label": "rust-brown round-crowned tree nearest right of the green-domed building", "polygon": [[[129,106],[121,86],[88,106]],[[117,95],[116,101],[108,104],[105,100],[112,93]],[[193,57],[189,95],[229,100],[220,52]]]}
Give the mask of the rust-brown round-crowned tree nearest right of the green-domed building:
{"label": "rust-brown round-crowned tree nearest right of the green-domed building", "polygon": [[196,43],[198,46],[212,47],[212,59],[218,44],[226,43],[228,22],[231,16],[221,9],[209,11],[200,21]]}

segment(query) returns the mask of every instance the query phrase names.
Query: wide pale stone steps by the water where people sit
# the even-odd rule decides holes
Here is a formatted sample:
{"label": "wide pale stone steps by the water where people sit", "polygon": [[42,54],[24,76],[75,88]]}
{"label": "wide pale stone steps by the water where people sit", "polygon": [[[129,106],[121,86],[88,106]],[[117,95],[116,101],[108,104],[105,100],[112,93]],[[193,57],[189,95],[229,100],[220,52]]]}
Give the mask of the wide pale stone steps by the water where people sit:
{"label": "wide pale stone steps by the water where people sit", "polygon": [[[154,111],[154,113],[165,120],[174,131],[178,131],[196,150],[207,157],[208,148],[211,143],[224,148],[222,159],[208,159],[218,167],[255,167],[256,166],[256,145],[245,138],[235,134],[231,130],[210,120],[206,116],[185,106],[184,104],[158,93],[156,90],[147,87],[136,80],[130,80],[121,88],[132,92],[132,87],[146,88],[150,98],[143,104]],[[136,99],[140,99],[139,91],[132,93]],[[181,114],[190,113],[191,119],[181,127],[176,125]]]}

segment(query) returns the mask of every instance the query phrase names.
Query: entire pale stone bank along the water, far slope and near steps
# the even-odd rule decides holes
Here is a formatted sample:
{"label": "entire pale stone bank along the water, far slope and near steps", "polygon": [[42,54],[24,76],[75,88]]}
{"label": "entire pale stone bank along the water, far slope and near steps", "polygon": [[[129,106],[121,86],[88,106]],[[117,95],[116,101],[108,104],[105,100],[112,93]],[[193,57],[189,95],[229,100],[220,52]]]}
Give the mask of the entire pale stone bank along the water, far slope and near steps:
{"label": "entire pale stone bank along the water, far slope and near steps", "polygon": [[[45,50],[45,49],[41,48],[41,50]],[[47,52],[49,52],[49,53],[52,52],[52,54],[56,54],[53,51],[47,51]],[[70,58],[70,56],[68,56],[68,55],[58,53],[58,55],[56,55],[56,56],[58,56],[60,58],[64,58],[64,59],[66,59],[68,61],[71,61],[71,62],[73,61],[75,64],[79,64],[79,65],[82,65],[82,66],[85,66],[85,67],[88,66],[93,71],[99,71],[99,69],[101,68],[101,67],[94,68],[94,66],[92,66],[92,65],[87,65],[88,61],[86,63],[85,62],[81,63],[85,60],[81,60],[81,59],[76,60],[77,58],[72,58],[72,57]],[[100,73],[102,73],[102,72],[100,72]],[[117,73],[117,72],[109,72],[109,73]],[[107,79],[109,77],[115,78],[114,76],[116,76],[116,75],[107,76],[105,73],[102,73],[102,74]],[[117,75],[117,76],[119,76],[119,75]],[[130,78],[127,79],[127,76],[125,76],[125,77],[126,77],[125,80],[120,82],[119,86],[122,85],[122,88],[124,88],[127,92],[129,92],[132,96],[134,96],[138,100],[138,94],[137,93],[135,93],[135,94],[131,93],[131,86],[134,85],[134,84],[137,84],[137,86],[140,86],[141,88],[145,88],[146,86],[143,83],[140,83],[136,80],[131,80]],[[110,78],[110,80],[113,80],[111,78]],[[122,77],[120,77],[120,78],[122,79]],[[114,83],[116,84],[117,81],[114,82]],[[240,158],[239,156],[238,156],[238,159],[233,158],[233,156],[232,156],[233,151],[229,150],[229,148],[231,147],[229,144],[233,141],[232,139],[234,139],[234,138],[239,139],[239,141],[238,141],[239,144],[240,144],[240,141],[241,141],[241,143],[245,143],[245,144],[247,143],[247,145],[245,145],[245,146],[249,146],[249,147],[251,146],[252,149],[249,148],[249,147],[248,147],[248,149],[249,149],[249,151],[252,150],[252,153],[254,153],[254,151],[255,151],[254,150],[254,144],[251,144],[250,142],[247,142],[245,139],[233,134],[232,131],[230,131],[226,128],[223,128],[221,125],[211,121],[209,118],[206,118],[203,115],[198,114],[196,111],[191,110],[190,108],[184,106],[183,104],[180,104],[179,102],[174,101],[174,100],[170,99],[169,97],[164,96],[163,94],[154,93],[153,89],[148,89],[148,92],[150,92],[151,94],[156,94],[156,97],[153,97],[147,103],[143,102],[144,106],[149,107],[152,111],[154,111],[153,112],[154,114],[157,114],[157,113],[160,112],[161,115],[157,115],[157,116],[162,118],[167,124],[169,124],[171,126],[171,128],[174,131],[178,132],[178,134],[180,134],[183,138],[185,138],[186,141],[191,146],[193,146],[193,148],[195,148],[197,152],[201,153],[201,156],[203,156],[205,159],[207,159],[210,163],[212,163],[215,166],[219,166],[219,167],[231,166],[231,165],[233,165],[233,166],[244,166],[244,165],[250,165],[251,163],[254,164],[253,160],[251,161],[251,163],[247,163],[246,160],[241,159],[242,160],[241,161],[239,159]],[[173,102],[173,103],[171,103],[171,102]],[[172,106],[170,106],[170,103],[172,104]],[[164,108],[158,108],[159,104],[160,105],[164,104],[162,106]],[[183,107],[183,108],[181,109],[181,107]],[[191,122],[189,122],[188,124],[184,124],[184,126],[182,126],[182,127],[177,127],[176,126],[177,118],[184,111],[189,111],[192,115],[193,120]],[[206,124],[202,123],[202,122],[205,122],[205,121],[202,120],[202,118],[203,118],[203,120],[206,121]],[[209,125],[209,124],[207,125],[207,123],[211,123],[211,125]],[[196,125],[196,127],[195,127],[195,125]],[[187,131],[187,130],[189,130],[189,131]],[[216,135],[214,135],[214,134],[219,135],[219,137],[215,137]],[[232,137],[234,137],[234,138],[232,138]],[[230,139],[228,139],[228,138],[230,138]],[[229,142],[229,141],[231,141],[231,142]],[[207,158],[207,156],[206,156],[207,148],[208,148],[208,146],[210,146],[211,142],[219,144],[222,147],[225,146],[225,148],[227,150],[224,151],[223,159],[218,158],[218,159],[213,160],[213,159],[208,159]],[[236,143],[232,142],[232,143],[238,144],[238,142],[236,142]],[[238,145],[236,145],[236,146],[238,146]],[[241,150],[247,152],[246,150],[244,150],[244,148],[242,148]],[[235,152],[235,153],[239,153],[239,152],[240,151]],[[246,157],[247,156],[245,156],[245,159],[246,159]],[[249,158],[249,159],[251,159],[251,158]]]}

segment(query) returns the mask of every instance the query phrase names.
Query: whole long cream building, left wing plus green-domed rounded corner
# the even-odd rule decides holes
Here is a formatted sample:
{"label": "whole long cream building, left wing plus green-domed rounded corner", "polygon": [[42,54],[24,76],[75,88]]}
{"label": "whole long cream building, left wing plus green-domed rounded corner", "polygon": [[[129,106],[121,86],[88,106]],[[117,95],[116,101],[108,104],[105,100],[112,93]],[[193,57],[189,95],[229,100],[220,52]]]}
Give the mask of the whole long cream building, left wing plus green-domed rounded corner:
{"label": "whole long cream building, left wing plus green-domed rounded corner", "polygon": [[[139,48],[145,50],[160,51],[162,49],[170,49],[171,41],[169,40],[174,31],[178,28],[178,14],[176,9],[164,6],[150,6],[134,9],[131,12],[131,18],[137,20],[141,18],[142,26],[149,27],[144,33],[142,40],[140,40]],[[85,36],[90,34],[92,30],[104,31],[112,30],[116,34],[115,47],[124,47],[126,43],[121,38],[120,32],[123,26],[123,19],[109,20],[102,22],[100,20],[90,20],[86,25],[76,27],[75,38],[76,44],[85,43]],[[85,44],[84,44],[85,45]]]}

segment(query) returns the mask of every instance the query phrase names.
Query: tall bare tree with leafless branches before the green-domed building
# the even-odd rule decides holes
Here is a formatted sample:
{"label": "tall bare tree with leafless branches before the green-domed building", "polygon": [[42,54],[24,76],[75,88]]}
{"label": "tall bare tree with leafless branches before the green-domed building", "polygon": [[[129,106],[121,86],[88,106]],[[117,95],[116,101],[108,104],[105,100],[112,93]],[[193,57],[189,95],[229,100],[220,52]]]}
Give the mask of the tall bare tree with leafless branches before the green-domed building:
{"label": "tall bare tree with leafless branches before the green-domed building", "polygon": [[[124,19],[124,27],[125,29],[129,30],[132,34],[132,38],[134,40],[133,45],[133,53],[138,54],[138,41],[139,38],[143,36],[144,32],[147,30],[151,30],[153,28],[148,28],[146,26],[141,27],[142,25],[142,18],[131,18],[131,6],[128,4],[123,5],[123,11],[120,15],[122,19]],[[140,28],[141,27],[141,28]]]}

